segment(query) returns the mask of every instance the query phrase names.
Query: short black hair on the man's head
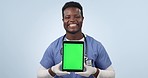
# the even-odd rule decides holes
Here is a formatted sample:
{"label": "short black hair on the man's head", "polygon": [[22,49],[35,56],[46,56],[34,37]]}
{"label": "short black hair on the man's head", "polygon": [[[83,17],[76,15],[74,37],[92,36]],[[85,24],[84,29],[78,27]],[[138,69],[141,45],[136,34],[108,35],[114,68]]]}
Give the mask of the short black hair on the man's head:
{"label": "short black hair on the man's head", "polygon": [[69,7],[79,8],[81,10],[81,15],[83,17],[83,8],[82,8],[81,4],[78,2],[70,1],[70,2],[65,3],[65,5],[62,8],[62,17],[63,18],[64,18],[64,10]]}

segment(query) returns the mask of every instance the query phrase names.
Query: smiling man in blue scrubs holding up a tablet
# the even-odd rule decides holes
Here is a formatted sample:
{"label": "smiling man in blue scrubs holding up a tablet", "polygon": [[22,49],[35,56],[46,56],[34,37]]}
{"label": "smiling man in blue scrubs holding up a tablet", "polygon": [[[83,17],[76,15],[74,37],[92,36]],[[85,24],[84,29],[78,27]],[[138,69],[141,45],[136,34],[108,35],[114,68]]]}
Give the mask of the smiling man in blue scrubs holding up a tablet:
{"label": "smiling man in blue scrubs holding up a tablet", "polygon": [[[103,45],[88,35],[82,33],[83,8],[78,2],[67,2],[62,8],[63,25],[66,34],[47,48],[40,62],[38,78],[115,78],[110,58]],[[91,65],[84,64],[84,72],[61,71],[61,48],[63,41],[84,41],[88,47],[85,53]],[[86,40],[86,41],[85,41]]]}

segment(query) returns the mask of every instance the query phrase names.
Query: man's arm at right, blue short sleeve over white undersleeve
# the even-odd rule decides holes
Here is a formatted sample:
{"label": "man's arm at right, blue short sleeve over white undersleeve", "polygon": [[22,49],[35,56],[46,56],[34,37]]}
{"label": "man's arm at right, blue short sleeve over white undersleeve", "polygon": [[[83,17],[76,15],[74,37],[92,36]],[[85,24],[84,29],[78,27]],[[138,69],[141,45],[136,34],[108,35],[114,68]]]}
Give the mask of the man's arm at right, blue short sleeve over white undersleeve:
{"label": "man's arm at right, blue short sleeve over white undersleeve", "polygon": [[97,68],[101,69],[98,69],[99,73],[96,78],[115,78],[115,71],[111,66],[112,62],[102,44],[98,46],[98,53],[99,54],[95,64]]}

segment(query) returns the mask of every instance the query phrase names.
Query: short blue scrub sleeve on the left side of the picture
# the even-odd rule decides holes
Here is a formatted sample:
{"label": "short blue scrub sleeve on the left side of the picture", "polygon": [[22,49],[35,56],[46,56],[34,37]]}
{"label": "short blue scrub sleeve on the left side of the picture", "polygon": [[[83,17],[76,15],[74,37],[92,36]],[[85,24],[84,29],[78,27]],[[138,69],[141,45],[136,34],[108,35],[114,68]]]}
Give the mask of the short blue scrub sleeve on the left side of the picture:
{"label": "short blue scrub sleeve on the left side of the picture", "polygon": [[42,57],[42,59],[40,61],[40,64],[43,67],[45,67],[46,69],[48,69],[48,68],[51,68],[54,65],[53,60],[54,60],[54,58],[53,58],[53,46],[50,45],[46,49],[46,51],[45,51],[45,53],[44,53],[44,55],[43,55],[43,57]]}

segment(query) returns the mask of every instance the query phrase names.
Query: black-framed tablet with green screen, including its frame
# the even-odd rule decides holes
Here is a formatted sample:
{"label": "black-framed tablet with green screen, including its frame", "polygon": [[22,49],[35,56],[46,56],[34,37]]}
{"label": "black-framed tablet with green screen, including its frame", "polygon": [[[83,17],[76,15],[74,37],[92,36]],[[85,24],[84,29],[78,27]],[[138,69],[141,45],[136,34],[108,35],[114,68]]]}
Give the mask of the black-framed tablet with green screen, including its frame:
{"label": "black-framed tablet with green screen, including its frame", "polygon": [[63,41],[62,71],[82,72],[84,69],[84,42]]}

